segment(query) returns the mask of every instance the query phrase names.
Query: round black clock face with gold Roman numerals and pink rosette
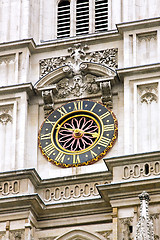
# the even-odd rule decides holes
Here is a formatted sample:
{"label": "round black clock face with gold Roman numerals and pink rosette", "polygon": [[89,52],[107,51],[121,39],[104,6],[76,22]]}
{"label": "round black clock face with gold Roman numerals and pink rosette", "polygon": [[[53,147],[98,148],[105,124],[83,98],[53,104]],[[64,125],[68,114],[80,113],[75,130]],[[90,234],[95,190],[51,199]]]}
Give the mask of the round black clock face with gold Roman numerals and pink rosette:
{"label": "round black clock face with gold Roman numerals and pink rosette", "polygon": [[61,167],[92,164],[106,155],[117,138],[113,112],[99,102],[79,100],[53,111],[39,131],[39,147]]}

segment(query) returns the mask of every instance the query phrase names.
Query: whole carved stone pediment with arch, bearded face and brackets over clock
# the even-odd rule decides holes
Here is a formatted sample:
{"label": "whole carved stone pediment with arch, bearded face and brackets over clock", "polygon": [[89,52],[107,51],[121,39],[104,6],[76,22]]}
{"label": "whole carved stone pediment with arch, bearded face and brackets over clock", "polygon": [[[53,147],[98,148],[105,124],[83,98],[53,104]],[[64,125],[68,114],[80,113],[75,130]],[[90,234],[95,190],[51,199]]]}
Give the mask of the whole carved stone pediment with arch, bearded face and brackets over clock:
{"label": "whole carved stone pediment with arch, bearded face and brackets over clock", "polygon": [[[111,86],[118,80],[117,49],[86,53],[88,46],[75,44],[67,57],[40,61],[40,80],[35,88],[42,93],[44,110],[53,110],[54,102],[101,97],[112,107]],[[48,114],[49,112],[47,112]]]}

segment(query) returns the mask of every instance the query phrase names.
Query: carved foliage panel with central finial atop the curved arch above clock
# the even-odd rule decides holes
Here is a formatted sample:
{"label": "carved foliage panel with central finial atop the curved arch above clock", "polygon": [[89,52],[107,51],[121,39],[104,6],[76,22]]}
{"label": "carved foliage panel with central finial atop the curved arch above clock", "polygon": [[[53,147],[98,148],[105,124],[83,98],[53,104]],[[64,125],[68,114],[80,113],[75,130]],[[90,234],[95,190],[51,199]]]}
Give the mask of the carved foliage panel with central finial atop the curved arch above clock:
{"label": "carved foliage panel with central finial atop the curved arch above clock", "polygon": [[[80,65],[80,63],[82,62],[94,62],[100,63],[107,67],[111,67],[113,69],[118,67],[118,48],[95,51],[92,53],[86,53],[87,49],[87,45],[82,46],[80,43],[78,43],[74,44],[73,47],[68,48],[68,52],[70,53],[69,56],[40,60],[40,78],[62,66],[68,65],[73,67],[74,62],[76,65]],[[71,62],[72,59],[74,60],[73,63]],[[81,70],[82,69],[85,69],[84,64],[81,65]],[[74,72],[76,72],[76,69],[74,69]],[[79,73],[79,71],[77,71],[76,73]]]}

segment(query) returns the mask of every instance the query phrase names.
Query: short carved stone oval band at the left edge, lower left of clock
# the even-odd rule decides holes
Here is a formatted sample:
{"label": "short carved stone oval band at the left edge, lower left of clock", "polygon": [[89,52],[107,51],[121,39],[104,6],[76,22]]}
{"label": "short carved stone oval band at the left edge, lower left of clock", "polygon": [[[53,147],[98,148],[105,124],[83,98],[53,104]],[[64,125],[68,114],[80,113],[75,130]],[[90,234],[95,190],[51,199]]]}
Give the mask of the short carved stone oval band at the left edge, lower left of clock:
{"label": "short carved stone oval band at the left edge, lower left of clock", "polygon": [[0,193],[3,196],[18,194],[20,191],[20,182],[18,180],[0,183]]}

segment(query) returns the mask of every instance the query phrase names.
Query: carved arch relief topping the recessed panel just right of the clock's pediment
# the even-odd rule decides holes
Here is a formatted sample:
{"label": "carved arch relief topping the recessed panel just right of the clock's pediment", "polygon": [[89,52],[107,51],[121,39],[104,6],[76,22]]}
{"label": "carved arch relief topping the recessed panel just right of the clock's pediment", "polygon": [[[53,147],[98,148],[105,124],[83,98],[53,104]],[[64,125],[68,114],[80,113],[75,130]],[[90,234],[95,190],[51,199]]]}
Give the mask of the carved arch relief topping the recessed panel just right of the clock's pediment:
{"label": "carved arch relief topping the recessed panel just right of the clock's pediment", "polygon": [[138,86],[141,103],[151,104],[158,101],[158,83]]}

